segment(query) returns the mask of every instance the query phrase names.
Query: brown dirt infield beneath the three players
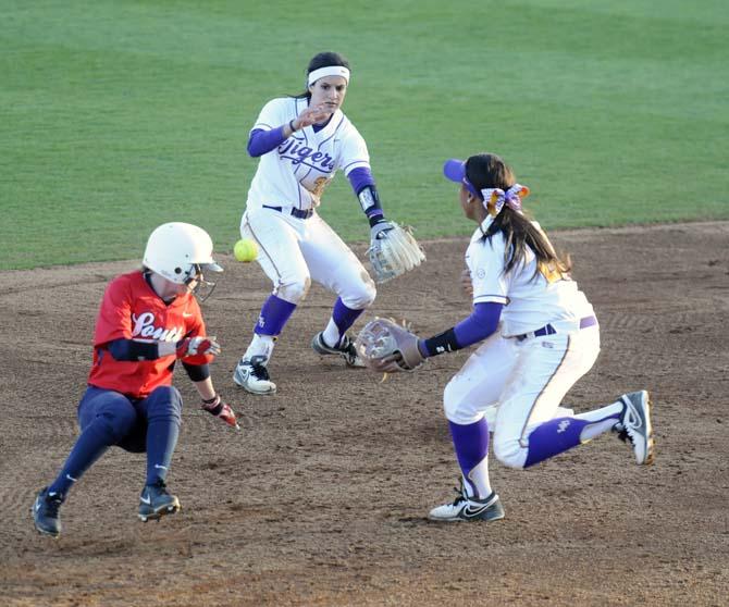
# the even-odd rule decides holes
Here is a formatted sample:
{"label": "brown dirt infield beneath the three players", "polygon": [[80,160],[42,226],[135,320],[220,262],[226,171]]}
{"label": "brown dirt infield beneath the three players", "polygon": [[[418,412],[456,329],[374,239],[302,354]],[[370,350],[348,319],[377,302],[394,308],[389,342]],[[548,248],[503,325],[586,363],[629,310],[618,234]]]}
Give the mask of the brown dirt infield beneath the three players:
{"label": "brown dirt infield beneath the three players", "polygon": [[[39,536],[30,504],[74,441],[99,298],[134,263],[0,273],[0,605],[726,605],[729,222],[552,236],[603,338],[566,401],[650,388],[656,463],[609,435],[523,472],[492,458],[507,518],[491,524],[424,518],[458,478],[441,398],[472,349],[379,383],[310,350],[333,301],[314,287],[271,364],[279,394],[247,396],[231,375],[269,285],[220,256],[213,377],[244,431],[197,410],[178,373],[184,510],[138,522],[144,456],[111,449],[63,507],[63,536]],[[432,334],[462,318],[466,245],[427,243],[357,326],[407,315]]]}

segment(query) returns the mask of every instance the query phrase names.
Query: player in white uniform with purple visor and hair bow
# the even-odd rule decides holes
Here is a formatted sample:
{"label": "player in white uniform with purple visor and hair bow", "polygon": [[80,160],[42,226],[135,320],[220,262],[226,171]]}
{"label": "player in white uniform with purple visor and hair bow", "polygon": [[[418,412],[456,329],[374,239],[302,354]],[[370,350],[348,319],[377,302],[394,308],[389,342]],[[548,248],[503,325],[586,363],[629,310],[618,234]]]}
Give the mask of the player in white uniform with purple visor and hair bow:
{"label": "player in white uniform with purple visor and hair bow", "polygon": [[[559,407],[594,364],[600,331],[592,306],[570,280],[539,224],[521,211],[529,189],[516,184],[494,154],[449,160],[446,177],[461,185],[467,218],[479,224],[466,253],[473,313],[455,327],[419,342],[425,357],[483,342],[444,392],[444,409],[462,473],[453,504],[434,508],[436,521],[504,517],[489,479],[489,423],[496,406],[494,454],[523,469],[616,431],[632,444],[638,463],[653,461],[646,392],[578,416]],[[498,331],[501,329],[501,331]]]}

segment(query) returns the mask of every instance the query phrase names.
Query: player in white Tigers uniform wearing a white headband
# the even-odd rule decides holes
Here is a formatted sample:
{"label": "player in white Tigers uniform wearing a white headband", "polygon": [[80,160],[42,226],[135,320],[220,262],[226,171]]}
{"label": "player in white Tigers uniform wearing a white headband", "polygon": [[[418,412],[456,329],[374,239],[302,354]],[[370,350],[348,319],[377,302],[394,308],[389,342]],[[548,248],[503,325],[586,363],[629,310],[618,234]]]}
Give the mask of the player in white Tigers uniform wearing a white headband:
{"label": "player in white Tigers uniform wearing a white headband", "polygon": [[309,62],[306,91],[269,101],[250,131],[248,152],[260,162],[240,234],[258,244],[258,262],[273,282],[252,340],[233,374],[252,394],[275,393],[267,367],[274,340],[312,280],[338,298],[329,324],[311,346],[321,355],[338,355],[348,366],[359,366],[346,331],[374,300],[375,286],[317,207],[342,169],[370,222],[371,238],[386,238],[392,224],[380,207],[367,145],[341,109],[349,74],[341,54],[317,54]]}

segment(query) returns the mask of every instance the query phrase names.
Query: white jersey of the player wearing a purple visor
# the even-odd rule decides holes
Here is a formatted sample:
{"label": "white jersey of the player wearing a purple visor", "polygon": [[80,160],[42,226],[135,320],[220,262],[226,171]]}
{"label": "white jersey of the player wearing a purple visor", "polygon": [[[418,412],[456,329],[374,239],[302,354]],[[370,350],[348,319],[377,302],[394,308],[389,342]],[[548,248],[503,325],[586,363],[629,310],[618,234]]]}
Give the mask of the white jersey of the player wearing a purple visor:
{"label": "white jersey of the player wearing a purple visor", "polygon": [[[578,331],[580,320],[594,315],[592,306],[577,283],[569,277],[547,281],[536,270],[536,257],[527,247],[524,263],[504,273],[506,240],[501,232],[489,241],[483,234],[493,218],[489,216],[471,237],[466,251],[466,264],[473,284],[473,304],[494,301],[504,304],[502,335],[522,335],[545,324],[559,332]],[[534,222],[539,227],[539,224]]]}

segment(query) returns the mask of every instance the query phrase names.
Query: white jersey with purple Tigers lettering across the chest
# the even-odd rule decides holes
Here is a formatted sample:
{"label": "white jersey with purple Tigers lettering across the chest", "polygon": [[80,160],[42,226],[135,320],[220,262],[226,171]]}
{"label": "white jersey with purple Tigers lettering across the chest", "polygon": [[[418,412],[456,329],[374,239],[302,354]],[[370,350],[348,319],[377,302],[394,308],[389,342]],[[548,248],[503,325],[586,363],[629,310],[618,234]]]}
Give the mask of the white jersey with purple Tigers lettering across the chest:
{"label": "white jersey with purple Tigers lettering across the chest", "polygon": [[[261,110],[251,132],[288,124],[307,104],[306,98],[272,99]],[[318,133],[307,126],[261,156],[248,190],[248,208],[258,209],[263,205],[301,210],[316,208],[337,170],[348,175],[359,166],[370,168],[367,144],[349,119],[337,110]]]}

